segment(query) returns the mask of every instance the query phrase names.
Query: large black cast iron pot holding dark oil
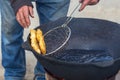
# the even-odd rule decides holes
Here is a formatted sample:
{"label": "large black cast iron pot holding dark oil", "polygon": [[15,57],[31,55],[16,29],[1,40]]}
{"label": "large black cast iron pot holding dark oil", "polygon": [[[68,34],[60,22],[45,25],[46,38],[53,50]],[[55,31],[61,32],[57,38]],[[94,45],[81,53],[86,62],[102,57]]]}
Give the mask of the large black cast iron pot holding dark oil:
{"label": "large black cast iron pot holding dark oil", "polygon": [[[65,20],[66,17],[60,18],[37,28],[45,33],[63,24]],[[29,35],[23,48],[32,51],[47,71],[66,80],[104,80],[118,72],[120,68],[120,25],[118,23],[101,19],[74,18],[68,26],[72,33],[65,50],[105,50],[112,55],[113,61],[102,61],[102,64],[77,63],[62,61],[55,58],[55,55],[39,55],[31,48]]]}

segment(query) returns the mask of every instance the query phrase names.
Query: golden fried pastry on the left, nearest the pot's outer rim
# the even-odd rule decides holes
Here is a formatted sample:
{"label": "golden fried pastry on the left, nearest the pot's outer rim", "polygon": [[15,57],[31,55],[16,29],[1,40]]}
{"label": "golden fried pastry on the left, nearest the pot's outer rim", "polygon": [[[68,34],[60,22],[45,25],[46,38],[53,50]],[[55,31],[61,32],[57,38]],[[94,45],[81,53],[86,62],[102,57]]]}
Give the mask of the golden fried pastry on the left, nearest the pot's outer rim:
{"label": "golden fried pastry on the left, nearest the pot's outer rim", "polygon": [[36,30],[31,29],[30,30],[30,39],[31,39],[31,46],[32,48],[37,52],[37,53],[41,53],[39,45],[38,45],[38,41],[37,41],[37,36],[36,36]]}

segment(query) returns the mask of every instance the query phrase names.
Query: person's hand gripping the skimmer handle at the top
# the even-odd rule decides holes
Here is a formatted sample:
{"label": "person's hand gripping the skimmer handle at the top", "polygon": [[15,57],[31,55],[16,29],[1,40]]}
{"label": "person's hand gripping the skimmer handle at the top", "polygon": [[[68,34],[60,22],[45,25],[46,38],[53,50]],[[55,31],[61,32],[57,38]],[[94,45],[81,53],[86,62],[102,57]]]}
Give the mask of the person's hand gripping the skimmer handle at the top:
{"label": "person's hand gripping the skimmer handle at the top", "polygon": [[95,5],[99,2],[99,0],[80,0],[80,3],[82,3],[80,10],[82,11],[87,5]]}

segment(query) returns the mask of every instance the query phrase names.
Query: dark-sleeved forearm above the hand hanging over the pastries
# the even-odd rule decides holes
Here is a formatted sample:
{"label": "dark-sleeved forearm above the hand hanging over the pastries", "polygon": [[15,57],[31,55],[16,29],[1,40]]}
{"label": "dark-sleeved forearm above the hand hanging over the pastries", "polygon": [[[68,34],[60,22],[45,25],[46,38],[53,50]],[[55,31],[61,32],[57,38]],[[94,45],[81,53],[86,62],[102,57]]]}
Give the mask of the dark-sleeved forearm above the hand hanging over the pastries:
{"label": "dark-sleeved forearm above the hand hanging over the pastries", "polygon": [[15,14],[17,13],[18,9],[24,5],[33,7],[31,0],[10,0],[10,1]]}

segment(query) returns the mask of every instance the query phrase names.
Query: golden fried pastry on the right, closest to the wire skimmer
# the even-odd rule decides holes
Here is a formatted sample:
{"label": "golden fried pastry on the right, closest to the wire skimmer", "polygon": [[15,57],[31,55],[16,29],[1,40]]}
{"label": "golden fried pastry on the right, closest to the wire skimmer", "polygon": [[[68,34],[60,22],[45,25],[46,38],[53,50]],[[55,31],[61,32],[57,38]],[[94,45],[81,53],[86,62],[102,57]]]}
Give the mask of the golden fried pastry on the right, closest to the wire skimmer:
{"label": "golden fried pastry on the right, closest to the wire skimmer", "polygon": [[39,47],[40,47],[42,54],[46,54],[46,44],[44,41],[43,33],[40,29],[37,29],[37,40],[38,40]]}

